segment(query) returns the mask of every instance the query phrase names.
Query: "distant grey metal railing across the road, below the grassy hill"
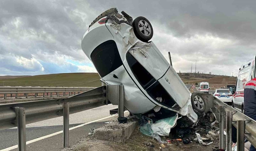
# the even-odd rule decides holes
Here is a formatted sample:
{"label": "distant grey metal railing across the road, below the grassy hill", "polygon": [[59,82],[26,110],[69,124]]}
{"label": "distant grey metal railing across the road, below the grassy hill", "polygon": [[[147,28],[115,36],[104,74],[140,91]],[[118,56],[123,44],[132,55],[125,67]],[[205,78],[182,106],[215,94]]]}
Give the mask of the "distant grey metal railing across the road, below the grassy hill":
{"label": "distant grey metal railing across the road, below the grassy hill", "polygon": [[28,98],[28,94],[34,93],[33,96],[37,97],[38,93],[42,93],[42,96],[45,97],[49,95],[52,97],[53,93],[56,93],[59,96],[59,93],[62,93],[63,96],[67,95],[75,95],[76,92],[79,94],[80,92],[85,92],[94,89],[93,87],[0,87],[0,94],[3,94],[4,99],[6,99],[7,94],[15,94],[15,98],[18,98],[18,94],[24,94],[26,98]]}

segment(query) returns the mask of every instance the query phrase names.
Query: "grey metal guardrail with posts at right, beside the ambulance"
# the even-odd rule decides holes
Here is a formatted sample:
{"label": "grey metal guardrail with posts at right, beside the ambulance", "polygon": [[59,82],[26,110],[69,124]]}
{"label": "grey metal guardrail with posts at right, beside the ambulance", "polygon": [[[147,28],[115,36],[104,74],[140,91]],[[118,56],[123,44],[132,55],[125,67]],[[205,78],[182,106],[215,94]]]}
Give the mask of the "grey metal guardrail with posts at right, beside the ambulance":
{"label": "grey metal guardrail with posts at right, beside the ambulance", "polygon": [[237,129],[237,150],[244,151],[244,138],[256,147],[256,121],[230,107],[218,99],[214,99],[214,107],[220,112],[220,149],[224,147],[224,114],[226,113],[226,151],[231,151],[233,125]]}

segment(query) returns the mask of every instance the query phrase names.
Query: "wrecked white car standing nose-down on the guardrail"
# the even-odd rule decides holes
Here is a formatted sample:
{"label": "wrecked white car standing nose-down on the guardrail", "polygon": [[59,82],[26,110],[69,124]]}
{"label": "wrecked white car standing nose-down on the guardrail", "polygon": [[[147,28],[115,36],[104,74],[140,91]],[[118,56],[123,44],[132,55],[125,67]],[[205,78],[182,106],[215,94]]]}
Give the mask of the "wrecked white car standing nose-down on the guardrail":
{"label": "wrecked white car standing nose-down on the guardrail", "polygon": [[167,109],[196,123],[190,91],[155,44],[148,42],[153,36],[148,19],[122,14],[116,8],[103,12],[82,39],[82,49],[103,82],[124,86],[124,106],[133,114]]}

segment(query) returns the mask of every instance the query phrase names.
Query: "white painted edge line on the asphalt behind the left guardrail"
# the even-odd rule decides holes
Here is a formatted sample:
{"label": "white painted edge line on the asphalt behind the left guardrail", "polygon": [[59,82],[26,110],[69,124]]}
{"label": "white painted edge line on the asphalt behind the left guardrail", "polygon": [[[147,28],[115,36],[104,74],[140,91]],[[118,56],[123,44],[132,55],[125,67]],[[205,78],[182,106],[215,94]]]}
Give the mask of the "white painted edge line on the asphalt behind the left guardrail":
{"label": "white painted edge line on the asphalt behind the left guardrail", "polygon": [[[93,123],[93,122],[97,122],[97,121],[99,121],[99,120],[103,120],[103,119],[106,119],[106,118],[109,118],[109,117],[113,117],[113,116],[116,116],[116,115],[110,115],[110,116],[107,116],[107,117],[104,117],[104,118],[100,118],[100,119],[97,119],[97,120],[94,120],[94,121],[90,121],[90,122],[87,122],[87,123],[84,123],[84,124],[81,124],[81,125],[77,125],[77,126],[75,126],[75,127],[69,128],[69,131],[70,131],[70,130],[73,130],[73,129],[76,129],[76,128],[79,128],[79,127],[82,127],[82,126],[84,126],[84,125]],[[46,138],[49,138],[49,137],[52,137],[52,136],[61,134],[61,133],[63,133],[63,131],[59,131],[59,132],[56,132],[56,133],[53,133],[53,134],[49,134],[49,135],[46,135],[46,136],[43,136],[43,137],[34,139],[34,140],[27,141],[27,142],[26,142],[26,145],[31,144],[31,143],[34,143],[34,142],[36,142],[36,141],[40,141],[40,140],[42,140],[42,139],[46,139]],[[16,148],[18,148],[18,145],[11,146],[11,147],[2,149],[2,150],[0,150],[0,151],[10,151],[10,150],[13,150],[13,149],[16,149]]]}

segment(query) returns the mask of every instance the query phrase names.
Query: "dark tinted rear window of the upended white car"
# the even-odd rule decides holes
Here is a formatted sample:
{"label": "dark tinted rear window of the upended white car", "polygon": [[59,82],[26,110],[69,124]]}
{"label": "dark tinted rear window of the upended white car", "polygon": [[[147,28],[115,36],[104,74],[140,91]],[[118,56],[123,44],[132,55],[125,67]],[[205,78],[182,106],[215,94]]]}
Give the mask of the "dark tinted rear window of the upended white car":
{"label": "dark tinted rear window of the upended white car", "polygon": [[105,77],[123,65],[116,42],[113,40],[106,41],[97,46],[91,53],[91,59],[100,77]]}

